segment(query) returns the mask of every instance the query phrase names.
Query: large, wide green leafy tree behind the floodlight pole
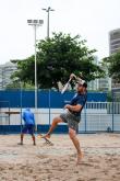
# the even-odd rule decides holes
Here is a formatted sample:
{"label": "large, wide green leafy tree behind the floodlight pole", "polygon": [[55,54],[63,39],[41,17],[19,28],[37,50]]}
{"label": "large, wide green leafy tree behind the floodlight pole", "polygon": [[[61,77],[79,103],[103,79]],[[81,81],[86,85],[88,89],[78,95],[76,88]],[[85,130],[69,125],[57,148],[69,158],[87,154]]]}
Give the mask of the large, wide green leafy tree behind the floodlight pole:
{"label": "large, wide green leafy tree behind the floodlight pole", "polygon": [[[86,41],[77,35],[53,33],[53,37],[37,43],[37,80],[39,88],[57,88],[67,82],[71,72],[82,72],[86,81],[103,76],[104,71],[94,64],[95,49],[88,49]],[[34,83],[34,56],[19,61],[14,76],[22,81]]]}

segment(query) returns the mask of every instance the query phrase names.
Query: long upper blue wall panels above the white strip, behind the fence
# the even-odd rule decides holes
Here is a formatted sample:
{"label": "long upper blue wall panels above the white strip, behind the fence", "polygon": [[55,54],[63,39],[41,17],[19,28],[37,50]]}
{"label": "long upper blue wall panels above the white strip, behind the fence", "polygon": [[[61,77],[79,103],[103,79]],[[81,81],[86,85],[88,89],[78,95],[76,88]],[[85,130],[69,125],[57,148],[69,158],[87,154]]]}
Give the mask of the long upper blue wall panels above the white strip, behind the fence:
{"label": "long upper blue wall panels above the white strip, behind the fence", "polygon": [[[74,92],[65,92],[61,94],[56,91],[38,91],[38,108],[63,108],[65,101],[70,101]],[[34,108],[35,106],[35,92],[34,91],[0,91],[0,108]],[[88,102],[106,102],[107,93],[93,93],[88,92]]]}

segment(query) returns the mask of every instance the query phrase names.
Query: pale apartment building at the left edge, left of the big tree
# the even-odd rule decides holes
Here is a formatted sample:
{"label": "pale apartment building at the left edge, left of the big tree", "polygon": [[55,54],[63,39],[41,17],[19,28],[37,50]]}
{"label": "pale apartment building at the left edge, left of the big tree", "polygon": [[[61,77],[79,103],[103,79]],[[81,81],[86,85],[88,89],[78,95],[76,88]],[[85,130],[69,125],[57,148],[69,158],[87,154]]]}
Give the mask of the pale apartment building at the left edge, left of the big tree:
{"label": "pale apartment building at the left edge, left of the big tree", "polygon": [[0,90],[5,89],[5,87],[11,82],[11,75],[17,70],[17,65],[11,61],[0,65]]}

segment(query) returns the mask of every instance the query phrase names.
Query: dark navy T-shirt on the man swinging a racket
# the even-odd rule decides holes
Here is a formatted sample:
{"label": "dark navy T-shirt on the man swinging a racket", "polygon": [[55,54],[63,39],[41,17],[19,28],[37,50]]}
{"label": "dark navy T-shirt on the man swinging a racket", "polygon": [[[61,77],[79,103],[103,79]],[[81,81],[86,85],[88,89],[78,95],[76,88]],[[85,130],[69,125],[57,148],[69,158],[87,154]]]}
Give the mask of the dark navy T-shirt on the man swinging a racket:
{"label": "dark navy T-shirt on the man swinging a racket", "polygon": [[86,99],[87,99],[87,92],[84,93],[84,94],[82,94],[82,93],[76,93],[76,94],[72,98],[70,104],[71,104],[71,105],[77,105],[77,104],[80,104],[80,105],[82,105],[82,109],[81,109],[79,112],[71,111],[71,110],[69,110],[69,111],[70,111],[72,114],[76,115],[76,116],[81,116],[81,112],[82,112],[82,110],[83,110],[83,108],[84,108],[84,105],[85,105],[85,103],[86,103]]}

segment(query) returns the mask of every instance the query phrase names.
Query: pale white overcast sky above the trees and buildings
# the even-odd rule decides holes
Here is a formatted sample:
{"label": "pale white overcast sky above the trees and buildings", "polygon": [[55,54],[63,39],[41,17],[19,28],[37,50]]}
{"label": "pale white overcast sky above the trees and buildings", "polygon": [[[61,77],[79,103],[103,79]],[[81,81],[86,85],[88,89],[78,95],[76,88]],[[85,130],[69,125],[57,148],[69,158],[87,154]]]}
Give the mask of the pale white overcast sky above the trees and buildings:
{"label": "pale white overcast sky above the trees and buildings", "polygon": [[86,45],[97,49],[99,59],[109,55],[108,33],[120,29],[120,0],[0,0],[0,65],[34,54],[34,30],[28,19],[44,20],[37,39],[47,36],[47,13],[51,7],[52,32],[80,34]]}

